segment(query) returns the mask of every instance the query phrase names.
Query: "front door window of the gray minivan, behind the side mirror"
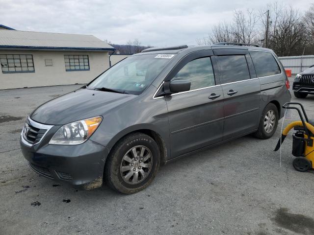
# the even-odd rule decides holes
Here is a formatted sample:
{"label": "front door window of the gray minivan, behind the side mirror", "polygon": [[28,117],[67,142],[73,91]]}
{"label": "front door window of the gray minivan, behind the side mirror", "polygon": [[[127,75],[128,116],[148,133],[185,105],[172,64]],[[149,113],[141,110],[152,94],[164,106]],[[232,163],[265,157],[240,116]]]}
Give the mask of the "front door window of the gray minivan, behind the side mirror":
{"label": "front door window of the gray minivan, behind the side mirror", "polygon": [[187,63],[172,79],[188,79],[191,82],[190,90],[215,85],[214,72],[209,57],[192,60]]}

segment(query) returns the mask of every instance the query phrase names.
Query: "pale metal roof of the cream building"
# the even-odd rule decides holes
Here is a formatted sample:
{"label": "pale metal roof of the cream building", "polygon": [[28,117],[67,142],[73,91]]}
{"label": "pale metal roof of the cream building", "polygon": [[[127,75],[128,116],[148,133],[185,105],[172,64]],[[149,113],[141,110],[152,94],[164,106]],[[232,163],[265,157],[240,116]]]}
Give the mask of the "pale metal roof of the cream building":
{"label": "pale metal roof of the cream building", "polygon": [[38,50],[114,50],[93,35],[0,30],[0,48]]}

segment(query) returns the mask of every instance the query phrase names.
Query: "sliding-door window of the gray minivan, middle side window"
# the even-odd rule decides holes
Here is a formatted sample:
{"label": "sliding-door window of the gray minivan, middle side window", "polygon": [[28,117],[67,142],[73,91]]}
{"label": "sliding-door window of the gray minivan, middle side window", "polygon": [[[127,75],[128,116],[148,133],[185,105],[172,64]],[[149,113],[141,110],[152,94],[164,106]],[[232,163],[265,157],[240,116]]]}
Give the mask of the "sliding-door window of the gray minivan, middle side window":
{"label": "sliding-door window of the gray minivan, middle side window", "polygon": [[217,56],[217,62],[222,83],[250,79],[249,68],[244,55]]}

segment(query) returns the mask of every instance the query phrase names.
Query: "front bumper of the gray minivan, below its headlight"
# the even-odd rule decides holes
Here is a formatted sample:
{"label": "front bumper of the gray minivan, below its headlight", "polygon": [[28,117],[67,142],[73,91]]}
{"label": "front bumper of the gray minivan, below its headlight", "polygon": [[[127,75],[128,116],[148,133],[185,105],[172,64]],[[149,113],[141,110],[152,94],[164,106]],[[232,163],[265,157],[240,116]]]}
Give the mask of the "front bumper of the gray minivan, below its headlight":
{"label": "front bumper of the gray minivan, below its headlight", "polygon": [[22,153],[35,172],[76,188],[102,186],[105,160],[109,153],[103,145],[88,140],[78,145],[42,143],[30,146],[22,138]]}

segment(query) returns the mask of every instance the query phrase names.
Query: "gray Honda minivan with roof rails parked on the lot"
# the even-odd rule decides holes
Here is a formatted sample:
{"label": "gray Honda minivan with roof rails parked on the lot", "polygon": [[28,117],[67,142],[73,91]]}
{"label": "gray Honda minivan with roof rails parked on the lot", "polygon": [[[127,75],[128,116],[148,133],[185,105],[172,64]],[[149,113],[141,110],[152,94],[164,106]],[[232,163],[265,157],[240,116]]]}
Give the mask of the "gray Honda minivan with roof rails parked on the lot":
{"label": "gray Honda minivan with roof rails parked on the lot", "polygon": [[251,133],[270,138],[288,88],[267,48],[149,48],[35,109],[21,148],[47,178],[134,193],[152,183],[161,163]]}

